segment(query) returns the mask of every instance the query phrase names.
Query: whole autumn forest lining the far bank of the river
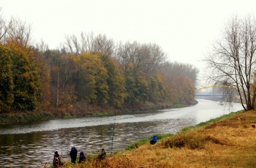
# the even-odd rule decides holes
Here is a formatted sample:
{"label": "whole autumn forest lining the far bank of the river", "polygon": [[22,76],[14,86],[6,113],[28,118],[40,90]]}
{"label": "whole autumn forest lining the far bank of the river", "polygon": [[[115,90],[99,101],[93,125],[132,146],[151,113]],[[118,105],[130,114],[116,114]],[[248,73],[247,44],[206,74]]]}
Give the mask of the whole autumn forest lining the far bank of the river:
{"label": "whole autumn forest lining the far bank of the river", "polygon": [[138,110],[142,104],[189,104],[195,97],[199,70],[167,61],[157,44],[81,32],[50,49],[43,40],[33,43],[31,29],[0,16],[0,114],[85,115]]}

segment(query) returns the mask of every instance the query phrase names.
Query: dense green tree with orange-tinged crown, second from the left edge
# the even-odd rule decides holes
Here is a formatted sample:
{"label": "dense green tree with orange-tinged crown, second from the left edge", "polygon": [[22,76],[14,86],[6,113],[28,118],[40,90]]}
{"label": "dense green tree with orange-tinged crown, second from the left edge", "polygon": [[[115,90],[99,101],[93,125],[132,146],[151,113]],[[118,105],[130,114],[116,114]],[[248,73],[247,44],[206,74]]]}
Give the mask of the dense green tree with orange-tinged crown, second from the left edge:
{"label": "dense green tree with orange-tinged crown, second from the left edge", "polygon": [[15,40],[8,40],[6,46],[12,51],[13,108],[17,111],[33,111],[41,95],[38,90],[40,70],[34,52]]}

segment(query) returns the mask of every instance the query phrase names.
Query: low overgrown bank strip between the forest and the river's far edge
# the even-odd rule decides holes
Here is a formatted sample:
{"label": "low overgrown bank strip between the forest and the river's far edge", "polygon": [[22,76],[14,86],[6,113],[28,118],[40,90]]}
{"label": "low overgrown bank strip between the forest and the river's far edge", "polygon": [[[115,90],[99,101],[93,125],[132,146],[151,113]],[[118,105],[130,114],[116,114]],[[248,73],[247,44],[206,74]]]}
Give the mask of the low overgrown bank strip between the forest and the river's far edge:
{"label": "low overgrown bank strip between the forest and the river's far edge", "polygon": [[122,109],[113,107],[101,107],[95,105],[86,105],[85,107],[74,108],[73,111],[65,109],[52,108],[49,112],[17,112],[0,114],[0,124],[24,123],[31,121],[51,120],[57,118],[76,118],[82,116],[105,116],[115,113],[125,113],[131,111],[159,110],[165,108],[181,108],[197,104],[197,100],[190,100],[184,104],[173,105],[172,103],[137,103],[125,105]]}

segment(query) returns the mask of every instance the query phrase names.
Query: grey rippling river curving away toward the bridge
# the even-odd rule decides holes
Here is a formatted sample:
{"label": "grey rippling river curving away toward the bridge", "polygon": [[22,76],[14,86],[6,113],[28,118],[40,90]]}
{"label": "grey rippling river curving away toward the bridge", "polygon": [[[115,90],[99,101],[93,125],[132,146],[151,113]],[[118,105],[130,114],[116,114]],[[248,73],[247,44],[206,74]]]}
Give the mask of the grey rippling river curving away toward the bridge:
{"label": "grey rippling river curving away toward the bridge", "polygon": [[219,102],[197,100],[197,105],[184,108],[0,125],[0,167],[49,166],[55,150],[63,160],[69,159],[72,145],[78,152],[90,154],[101,148],[108,153],[122,151],[130,141],[175,133],[182,127],[243,109],[237,103],[228,108]]}

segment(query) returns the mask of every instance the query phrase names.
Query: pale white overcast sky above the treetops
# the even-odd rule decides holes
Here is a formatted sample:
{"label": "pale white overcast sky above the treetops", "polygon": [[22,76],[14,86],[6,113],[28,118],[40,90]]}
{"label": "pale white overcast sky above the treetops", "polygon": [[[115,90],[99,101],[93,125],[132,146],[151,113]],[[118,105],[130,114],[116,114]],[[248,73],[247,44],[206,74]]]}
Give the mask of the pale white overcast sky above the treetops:
{"label": "pale white overcast sky above the treetops", "polygon": [[66,35],[105,34],[114,41],[155,43],[167,60],[195,65],[234,14],[254,15],[255,0],[0,0],[2,16],[31,24],[35,43],[59,48]]}

